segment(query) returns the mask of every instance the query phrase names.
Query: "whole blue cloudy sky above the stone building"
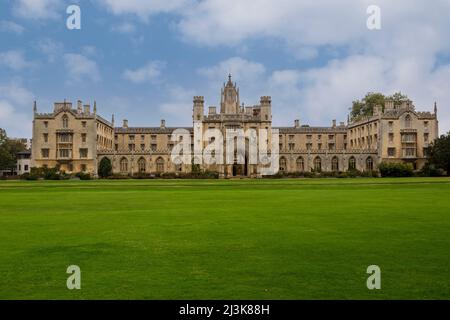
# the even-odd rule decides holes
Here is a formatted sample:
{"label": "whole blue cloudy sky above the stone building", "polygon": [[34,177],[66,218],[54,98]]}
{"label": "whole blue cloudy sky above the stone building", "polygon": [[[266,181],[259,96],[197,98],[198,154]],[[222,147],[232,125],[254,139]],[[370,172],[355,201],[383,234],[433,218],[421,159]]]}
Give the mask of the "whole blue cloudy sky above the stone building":
{"label": "whole blue cloudy sky above the stone building", "polygon": [[[66,9],[81,8],[81,30]],[[366,10],[381,8],[381,30]],[[450,0],[2,0],[0,127],[30,137],[32,103],[93,103],[131,126],[191,124],[228,73],[241,101],[271,95],[274,125],[344,121],[369,91],[438,103],[450,130]]]}

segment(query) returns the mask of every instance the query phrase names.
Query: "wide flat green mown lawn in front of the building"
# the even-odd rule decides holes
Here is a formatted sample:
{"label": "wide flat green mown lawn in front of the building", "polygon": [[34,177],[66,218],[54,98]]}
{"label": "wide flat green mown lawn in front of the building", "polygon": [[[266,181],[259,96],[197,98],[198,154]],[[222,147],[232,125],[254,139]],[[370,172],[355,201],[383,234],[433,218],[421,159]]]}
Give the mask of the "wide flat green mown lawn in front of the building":
{"label": "wide flat green mown lawn in front of the building", "polygon": [[450,179],[0,182],[0,299],[332,298],[450,298]]}

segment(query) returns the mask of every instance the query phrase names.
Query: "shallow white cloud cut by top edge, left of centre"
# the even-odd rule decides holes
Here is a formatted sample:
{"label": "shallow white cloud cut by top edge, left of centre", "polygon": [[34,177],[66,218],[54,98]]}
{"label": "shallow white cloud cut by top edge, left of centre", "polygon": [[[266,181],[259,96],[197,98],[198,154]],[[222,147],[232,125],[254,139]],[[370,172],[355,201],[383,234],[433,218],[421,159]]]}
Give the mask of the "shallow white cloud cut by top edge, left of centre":
{"label": "shallow white cloud cut by top edge, left of centre", "polygon": [[133,14],[143,20],[158,13],[177,12],[192,0],[101,0],[101,3],[116,15]]}

